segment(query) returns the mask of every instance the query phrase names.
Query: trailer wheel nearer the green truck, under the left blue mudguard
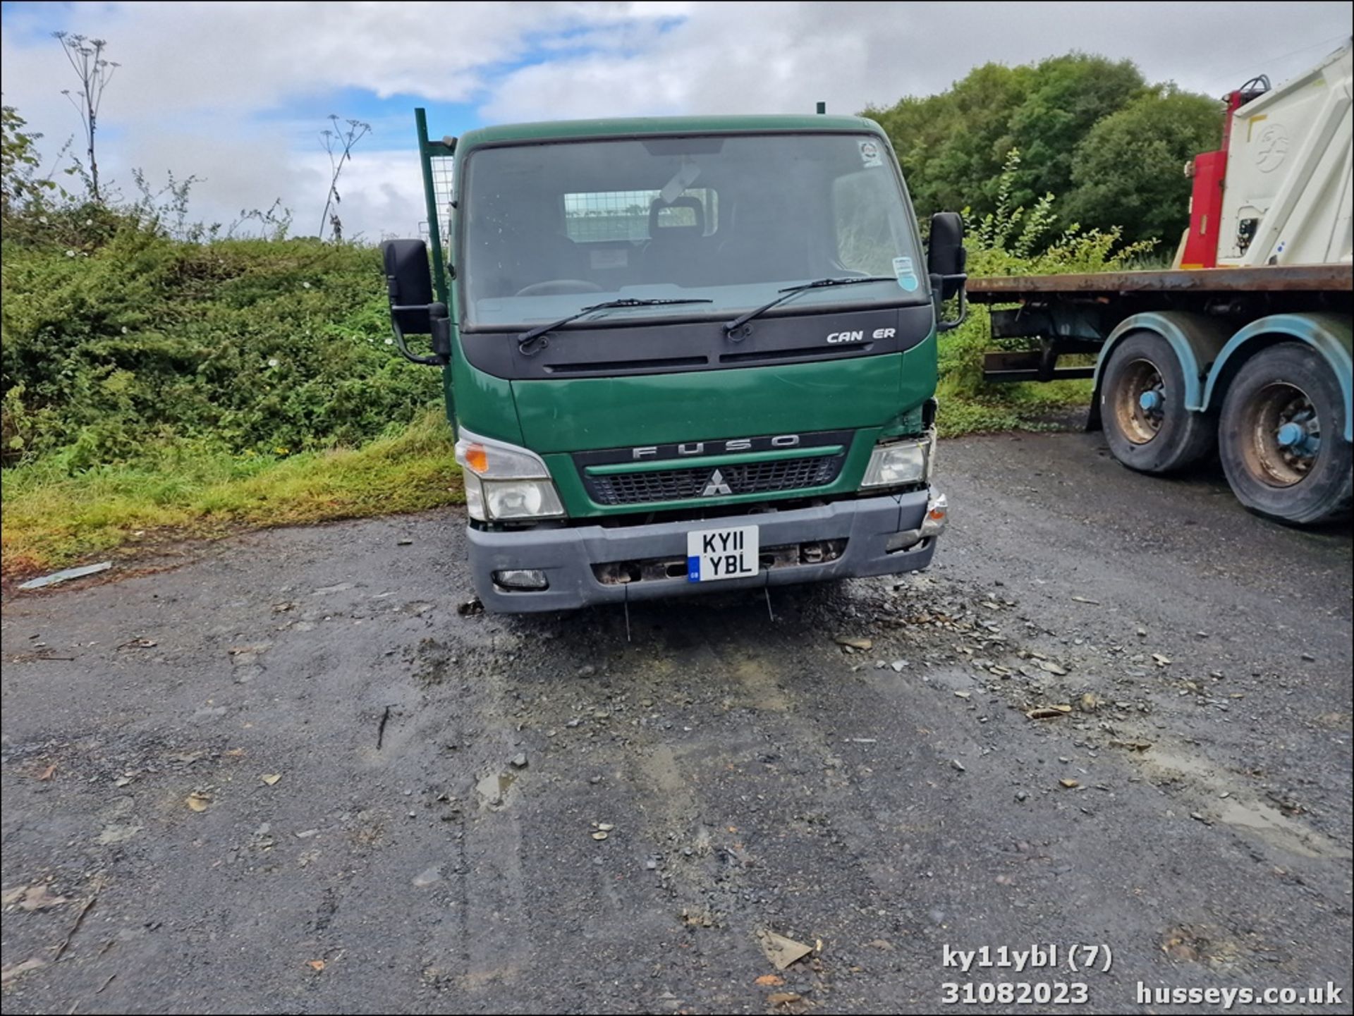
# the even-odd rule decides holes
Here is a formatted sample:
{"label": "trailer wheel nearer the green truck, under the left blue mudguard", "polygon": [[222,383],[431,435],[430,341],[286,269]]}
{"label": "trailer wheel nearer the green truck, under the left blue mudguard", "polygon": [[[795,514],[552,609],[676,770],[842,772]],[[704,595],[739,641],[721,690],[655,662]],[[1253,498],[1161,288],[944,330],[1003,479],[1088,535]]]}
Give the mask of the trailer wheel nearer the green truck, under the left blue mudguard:
{"label": "trailer wheel nearer the green truck, under the left blue mudguard", "polygon": [[1213,448],[1213,415],[1186,409],[1185,371],[1154,331],[1133,331],[1114,346],[1099,403],[1109,451],[1129,469],[1174,472]]}

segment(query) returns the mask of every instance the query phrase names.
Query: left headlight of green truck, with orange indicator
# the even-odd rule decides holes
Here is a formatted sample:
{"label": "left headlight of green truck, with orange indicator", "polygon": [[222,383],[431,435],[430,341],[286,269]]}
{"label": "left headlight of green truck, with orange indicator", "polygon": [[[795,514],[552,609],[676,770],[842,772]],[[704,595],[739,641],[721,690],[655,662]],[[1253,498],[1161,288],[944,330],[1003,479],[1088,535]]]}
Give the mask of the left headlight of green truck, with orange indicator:
{"label": "left headlight of green truck, with orange indicator", "polygon": [[462,429],[456,461],[466,475],[466,511],[479,522],[565,514],[550,469],[535,452]]}

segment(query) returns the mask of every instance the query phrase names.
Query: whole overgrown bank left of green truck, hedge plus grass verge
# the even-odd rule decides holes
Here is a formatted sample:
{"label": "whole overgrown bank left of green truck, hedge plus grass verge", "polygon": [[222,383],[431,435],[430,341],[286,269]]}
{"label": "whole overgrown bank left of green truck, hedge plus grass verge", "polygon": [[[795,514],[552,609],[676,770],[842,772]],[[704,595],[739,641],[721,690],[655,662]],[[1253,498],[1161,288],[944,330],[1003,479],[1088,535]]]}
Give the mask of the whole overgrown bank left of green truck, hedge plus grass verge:
{"label": "whole overgrown bank left of green truck, hedge plus grass verge", "polygon": [[[152,532],[460,501],[437,375],[394,356],[374,248],[286,239],[280,206],[225,238],[192,179],[89,202],[32,175],[5,111],[0,574]],[[234,239],[248,223],[268,239]],[[149,537],[152,541],[156,537]]]}

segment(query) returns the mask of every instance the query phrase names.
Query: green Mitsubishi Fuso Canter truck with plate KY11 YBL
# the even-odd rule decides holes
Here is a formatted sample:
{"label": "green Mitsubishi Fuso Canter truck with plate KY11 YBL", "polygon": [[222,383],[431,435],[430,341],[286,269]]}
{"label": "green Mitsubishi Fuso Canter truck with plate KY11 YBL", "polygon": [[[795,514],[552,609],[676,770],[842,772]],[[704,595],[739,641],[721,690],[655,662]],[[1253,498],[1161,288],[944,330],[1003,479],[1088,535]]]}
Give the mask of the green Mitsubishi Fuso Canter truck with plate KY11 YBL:
{"label": "green Mitsubishi Fuso Canter truck with plate KY11 YBL", "polygon": [[933,216],[923,252],[875,123],[431,141],[416,119],[428,238],[382,245],[391,322],[403,356],[441,369],[486,609],[930,563],[936,340],[964,314],[963,221]]}

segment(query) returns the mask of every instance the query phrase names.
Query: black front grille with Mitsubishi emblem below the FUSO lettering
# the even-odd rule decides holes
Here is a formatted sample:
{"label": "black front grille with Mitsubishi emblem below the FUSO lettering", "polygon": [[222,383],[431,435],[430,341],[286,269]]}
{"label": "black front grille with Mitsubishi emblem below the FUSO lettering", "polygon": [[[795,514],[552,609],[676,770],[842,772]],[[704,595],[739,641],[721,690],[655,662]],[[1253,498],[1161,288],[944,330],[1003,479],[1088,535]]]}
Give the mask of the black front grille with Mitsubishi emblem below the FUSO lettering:
{"label": "black front grille with Mitsubishi emblem below the FUSO lettering", "polygon": [[[837,479],[842,468],[841,455],[819,455],[806,459],[780,459],[769,463],[739,463],[718,467],[719,478],[728,494],[772,494],[787,490],[822,487]],[[700,465],[685,469],[658,469],[655,472],[621,472],[609,476],[588,476],[588,494],[598,505],[650,505],[659,501],[691,501],[701,498],[715,482],[716,468]],[[716,497],[711,494],[711,497]],[[726,497],[719,491],[718,497]]]}

